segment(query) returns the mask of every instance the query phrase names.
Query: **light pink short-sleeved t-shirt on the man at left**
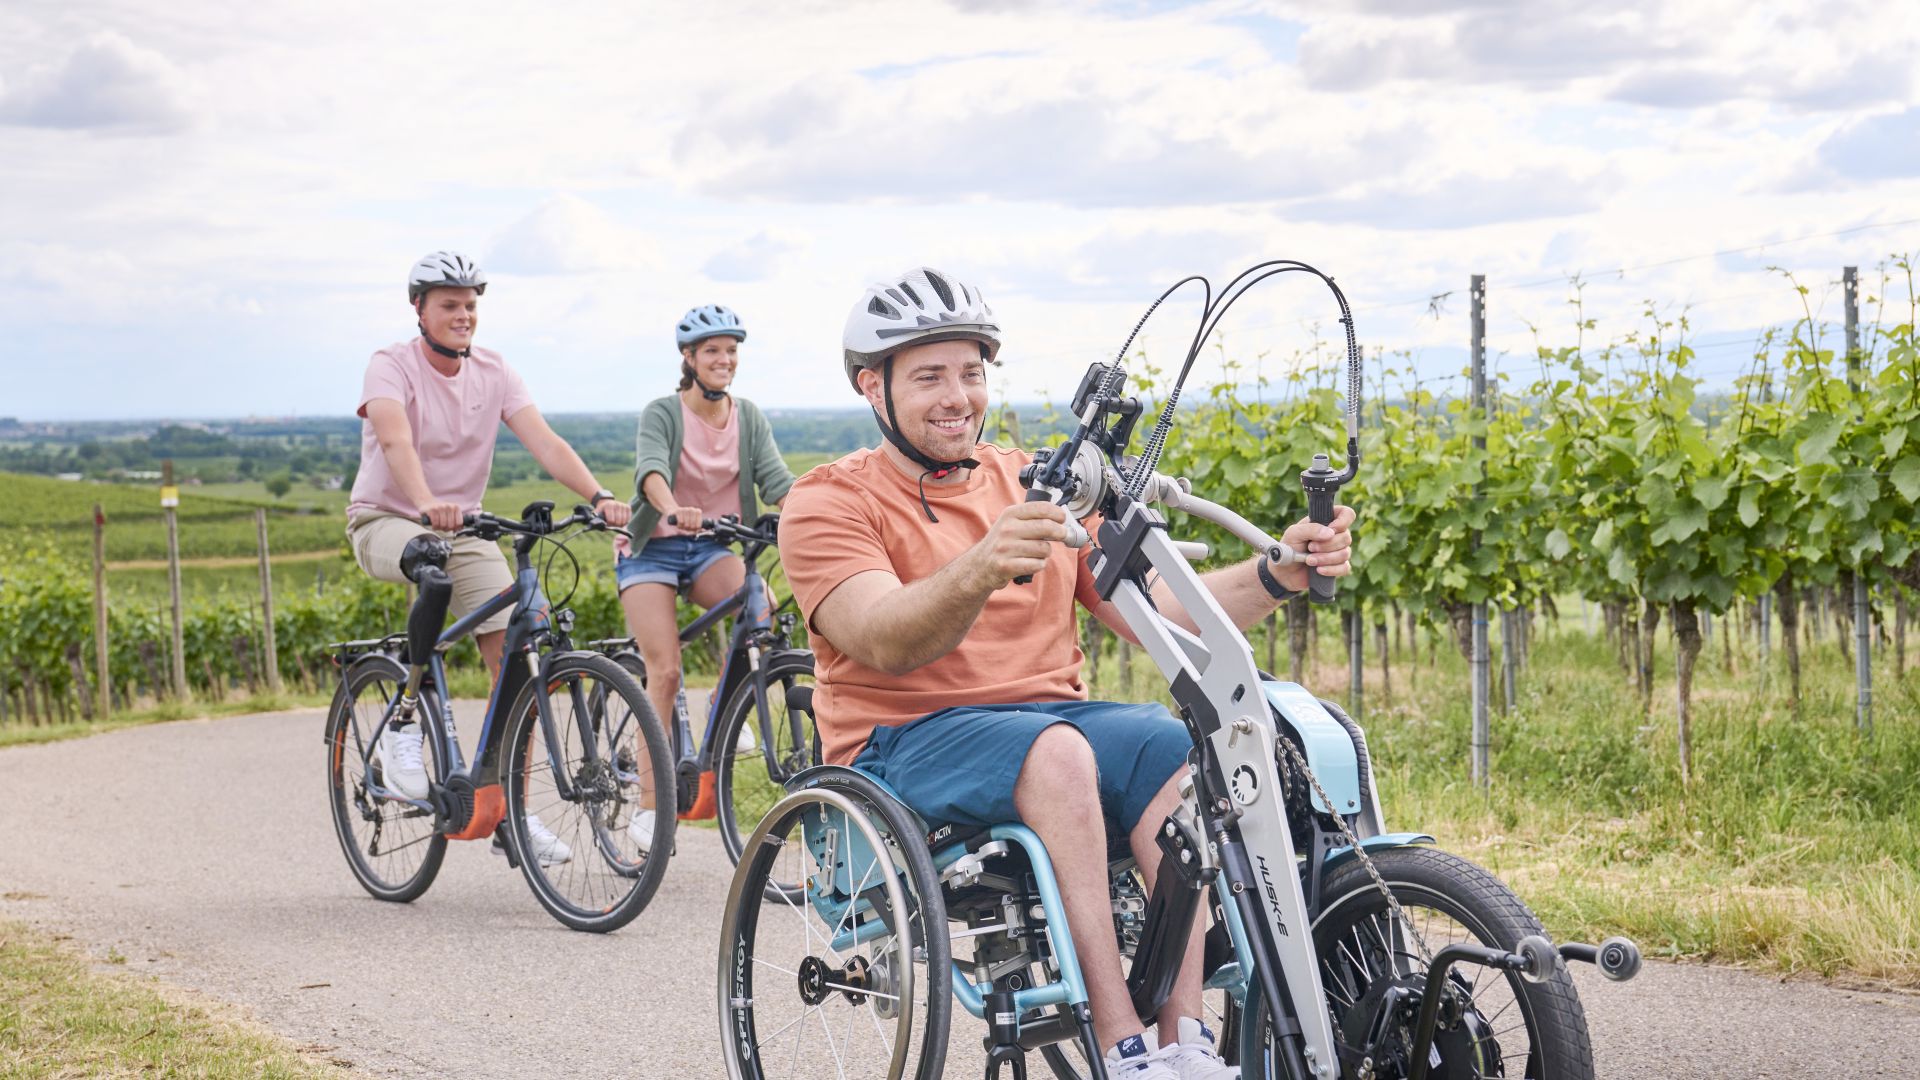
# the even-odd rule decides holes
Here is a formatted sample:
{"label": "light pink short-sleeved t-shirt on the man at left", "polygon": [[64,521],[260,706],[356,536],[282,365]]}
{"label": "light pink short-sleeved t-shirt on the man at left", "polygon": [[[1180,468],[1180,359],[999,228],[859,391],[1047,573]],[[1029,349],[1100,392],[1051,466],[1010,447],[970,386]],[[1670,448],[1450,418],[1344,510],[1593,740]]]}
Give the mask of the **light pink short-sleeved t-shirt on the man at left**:
{"label": "light pink short-sleeved t-shirt on the man at left", "polygon": [[493,473],[501,421],[534,404],[520,375],[493,350],[474,348],[453,375],[434,371],[420,338],[372,354],[355,407],[361,415],[361,471],[353,479],[348,517],[367,511],[420,513],[386,467],[372,421],[365,419],[367,402],[374,398],[405,405],[426,486],[468,511],[480,509],[488,475]]}

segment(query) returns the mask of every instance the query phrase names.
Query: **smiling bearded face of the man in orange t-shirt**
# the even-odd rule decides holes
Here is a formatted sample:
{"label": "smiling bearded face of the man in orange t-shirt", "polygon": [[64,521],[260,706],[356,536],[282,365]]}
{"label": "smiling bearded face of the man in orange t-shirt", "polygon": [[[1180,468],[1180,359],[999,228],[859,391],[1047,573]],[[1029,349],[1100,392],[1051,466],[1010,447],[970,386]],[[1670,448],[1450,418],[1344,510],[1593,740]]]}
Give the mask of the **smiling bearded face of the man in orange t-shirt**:
{"label": "smiling bearded face of the man in orange t-shirt", "polygon": [[[860,371],[860,392],[887,415],[879,369]],[[900,434],[935,461],[973,454],[987,415],[987,361],[979,342],[948,340],[908,346],[893,356],[893,415]]]}

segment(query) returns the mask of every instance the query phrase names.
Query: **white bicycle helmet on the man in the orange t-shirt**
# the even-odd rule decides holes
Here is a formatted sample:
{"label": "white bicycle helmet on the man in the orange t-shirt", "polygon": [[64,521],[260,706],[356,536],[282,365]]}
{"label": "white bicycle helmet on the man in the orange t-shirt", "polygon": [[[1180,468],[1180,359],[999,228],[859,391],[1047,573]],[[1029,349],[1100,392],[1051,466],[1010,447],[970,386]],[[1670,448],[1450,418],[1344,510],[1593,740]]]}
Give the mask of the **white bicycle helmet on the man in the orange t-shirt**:
{"label": "white bicycle helmet on the man in the orange t-shirt", "polygon": [[979,342],[981,357],[998,363],[1000,325],[977,288],[933,267],[874,282],[841,332],[847,382],[858,392],[862,367],[879,367],[906,346],[954,338]]}

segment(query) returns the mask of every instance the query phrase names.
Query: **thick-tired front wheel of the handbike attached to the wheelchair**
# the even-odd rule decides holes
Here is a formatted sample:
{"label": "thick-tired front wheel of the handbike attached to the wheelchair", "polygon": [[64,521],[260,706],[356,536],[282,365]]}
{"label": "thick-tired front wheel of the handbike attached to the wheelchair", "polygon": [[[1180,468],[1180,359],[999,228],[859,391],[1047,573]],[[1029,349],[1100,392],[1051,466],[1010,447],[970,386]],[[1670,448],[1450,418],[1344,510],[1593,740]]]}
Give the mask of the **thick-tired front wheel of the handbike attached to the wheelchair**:
{"label": "thick-tired front wheel of the handbike attached to the wheelchair", "polygon": [[[1513,890],[1467,859],[1434,847],[1390,847],[1373,853],[1373,865],[1434,953],[1453,944],[1511,951],[1521,938],[1546,934]],[[1327,905],[1313,922],[1321,986],[1334,1038],[1361,1051],[1375,1005],[1394,986],[1425,988],[1427,961],[1357,859],[1327,876],[1323,896]],[[1536,984],[1517,972],[1455,965],[1448,982],[1459,1007],[1434,1034],[1430,1080],[1594,1080],[1586,1011],[1565,967]],[[1281,1076],[1258,982],[1246,995],[1246,1019],[1240,1074]],[[1407,1076],[1413,1026],[1411,1019],[1392,1020],[1394,1034],[1375,1047],[1377,1078]]]}

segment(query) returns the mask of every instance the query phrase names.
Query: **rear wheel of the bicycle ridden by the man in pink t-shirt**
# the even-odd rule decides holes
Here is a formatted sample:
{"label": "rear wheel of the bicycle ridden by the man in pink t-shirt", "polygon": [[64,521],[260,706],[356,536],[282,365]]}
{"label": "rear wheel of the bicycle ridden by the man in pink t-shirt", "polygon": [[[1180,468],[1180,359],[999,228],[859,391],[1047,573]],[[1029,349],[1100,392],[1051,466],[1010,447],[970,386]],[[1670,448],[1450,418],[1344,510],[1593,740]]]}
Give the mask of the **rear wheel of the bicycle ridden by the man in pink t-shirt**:
{"label": "rear wheel of the bicycle ridden by the man in pink t-shirt", "polygon": [[[371,763],[374,730],[405,680],[405,669],[392,657],[363,657],[342,675],[326,713],[326,794],[340,851],[361,888],[394,903],[424,894],[447,855],[447,838],[434,828],[432,811],[376,796],[369,784],[378,776],[378,765]],[[422,713],[426,707],[422,698]],[[432,742],[426,740],[422,757],[426,774],[438,778]]]}

